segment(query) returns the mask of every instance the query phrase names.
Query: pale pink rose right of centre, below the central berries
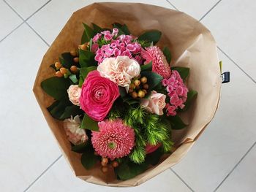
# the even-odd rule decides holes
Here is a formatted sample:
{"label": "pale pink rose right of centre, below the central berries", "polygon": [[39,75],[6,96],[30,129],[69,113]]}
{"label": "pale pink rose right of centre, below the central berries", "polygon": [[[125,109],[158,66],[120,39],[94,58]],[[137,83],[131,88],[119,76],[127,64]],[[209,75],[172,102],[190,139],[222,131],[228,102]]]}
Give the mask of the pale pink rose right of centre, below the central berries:
{"label": "pale pink rose right of centre, below the central berries", "polygon": [[163,115],[163,109],[165,108],[166,96],[157,91],[151,91],[149,99],[141,99],[141,105],[148,110],[148,112],[155,113],[157,115]]}

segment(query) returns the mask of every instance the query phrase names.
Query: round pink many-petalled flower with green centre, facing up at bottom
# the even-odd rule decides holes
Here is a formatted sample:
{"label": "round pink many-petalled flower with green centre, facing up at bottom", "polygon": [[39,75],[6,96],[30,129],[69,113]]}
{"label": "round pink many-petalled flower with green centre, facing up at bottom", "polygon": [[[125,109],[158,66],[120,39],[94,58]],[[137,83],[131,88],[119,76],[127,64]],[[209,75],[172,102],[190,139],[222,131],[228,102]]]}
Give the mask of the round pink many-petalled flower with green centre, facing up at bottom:
{"label": "round pink many-petalled flower with green centre, facing up at bottom", "polygon": [[98,123],[99,131],[92,131],[91,143],[102,157],[122,158],[135,145],[135,133],[125,126],[121,119],[105,120]]}

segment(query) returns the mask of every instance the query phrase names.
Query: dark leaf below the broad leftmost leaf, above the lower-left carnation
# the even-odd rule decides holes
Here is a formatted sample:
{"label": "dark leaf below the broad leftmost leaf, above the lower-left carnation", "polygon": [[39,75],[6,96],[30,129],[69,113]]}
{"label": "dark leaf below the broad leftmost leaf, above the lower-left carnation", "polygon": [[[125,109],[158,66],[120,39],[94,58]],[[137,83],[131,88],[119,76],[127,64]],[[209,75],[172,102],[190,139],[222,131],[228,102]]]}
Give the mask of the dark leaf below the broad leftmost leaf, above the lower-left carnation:
{"label": "dark leaf below the broad leftmost leaf, above the lower-left carnation", "polygon": [[[53,118],[58,120],[64,120],[61,116],[64,114],[66,107],[71,106],[72,103],[69,101],[68,98],[61,99],[60,101],[55,101],[50,107],[48,107],[48,111]],[[69,115],[70,117],[70,115]]]}

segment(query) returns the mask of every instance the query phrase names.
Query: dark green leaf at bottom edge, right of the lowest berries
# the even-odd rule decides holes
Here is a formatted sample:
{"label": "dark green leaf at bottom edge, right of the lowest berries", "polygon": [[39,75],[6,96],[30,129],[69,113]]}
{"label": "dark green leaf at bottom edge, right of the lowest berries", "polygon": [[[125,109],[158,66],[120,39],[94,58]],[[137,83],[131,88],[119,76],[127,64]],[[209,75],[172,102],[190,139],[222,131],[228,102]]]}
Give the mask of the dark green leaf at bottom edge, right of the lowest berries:
{"label": "dark green leaf at bottom edge, right of the lowest berries", "polygon": [[115,172],[120,180],[129,180],[140,173],[143,173],[148,168],[148,163],[145,161],[142,164],[135,164],[132,161],[124,161],[115,168]]}

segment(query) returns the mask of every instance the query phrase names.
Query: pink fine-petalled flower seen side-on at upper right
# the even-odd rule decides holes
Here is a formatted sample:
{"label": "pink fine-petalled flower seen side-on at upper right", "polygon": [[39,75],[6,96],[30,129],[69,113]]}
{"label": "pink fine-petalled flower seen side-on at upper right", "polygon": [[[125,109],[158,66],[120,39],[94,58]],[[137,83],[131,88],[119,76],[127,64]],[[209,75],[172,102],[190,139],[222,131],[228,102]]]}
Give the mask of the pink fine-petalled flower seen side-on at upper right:
{"label": "pink fine-petalled flower seen side-on at upper right", "polygon": [[164,53],[157,46],[146,47],[141,51],[141,55],[146,59],[144,64],[152,61],[152,71],[160,74],[165,79],[170,77],[170,66],[166,61]]}

